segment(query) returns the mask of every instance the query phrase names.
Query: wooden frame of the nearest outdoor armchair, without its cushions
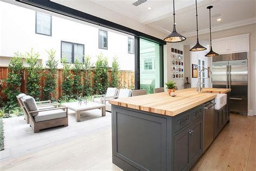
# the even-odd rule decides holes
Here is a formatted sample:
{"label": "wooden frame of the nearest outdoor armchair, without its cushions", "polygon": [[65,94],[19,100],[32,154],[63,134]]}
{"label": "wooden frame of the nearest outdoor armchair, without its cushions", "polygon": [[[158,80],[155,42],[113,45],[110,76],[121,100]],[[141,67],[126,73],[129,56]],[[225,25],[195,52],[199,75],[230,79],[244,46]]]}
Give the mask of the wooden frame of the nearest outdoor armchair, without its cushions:
{"label": "wooden frame of the nearest outdoor armchair, without its cushions", "polygon": [[[62,126],[62,125],[69,126],[68,107],[56,107],[56,108],[49,108],[45,110],[29,111],[28,106],[25,104],[25,102],[22,99],[21,99],[21,102],[22,102],[22,105],[24,106],[26,113],[28,113],[29,124],[33,128],[34,133],[39,132],[41,129],[45,129],[45,128],[51,128],[51,127]],[[53,110],[65,111],[66,117],[36,122],[32,116],[32,113],[35,113],[35,112],[44,112],[44,111],[53,111]]]}

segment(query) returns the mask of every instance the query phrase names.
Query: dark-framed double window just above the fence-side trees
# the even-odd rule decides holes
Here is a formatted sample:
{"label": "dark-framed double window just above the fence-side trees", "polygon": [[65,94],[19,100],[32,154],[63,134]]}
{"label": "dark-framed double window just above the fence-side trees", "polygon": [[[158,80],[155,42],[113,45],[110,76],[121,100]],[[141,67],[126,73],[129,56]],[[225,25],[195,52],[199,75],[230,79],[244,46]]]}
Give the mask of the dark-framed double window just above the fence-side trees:
{"label": "dark-framed double window just above the fence-side trees", "polygon": [[61,57],[66,58],[67,63],[74,63],[78,59],[80,63],[84,61],[84,45],[78,43],[62,41]]}

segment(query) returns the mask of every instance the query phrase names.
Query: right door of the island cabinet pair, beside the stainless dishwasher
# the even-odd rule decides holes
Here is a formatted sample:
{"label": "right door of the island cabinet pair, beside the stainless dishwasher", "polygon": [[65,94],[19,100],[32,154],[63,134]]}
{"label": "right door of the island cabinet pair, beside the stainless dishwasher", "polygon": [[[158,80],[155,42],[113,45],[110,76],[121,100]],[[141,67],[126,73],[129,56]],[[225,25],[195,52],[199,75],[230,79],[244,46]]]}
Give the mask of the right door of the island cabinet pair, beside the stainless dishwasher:
{"label": "right door of the island cabinet pair, beside the stainless dishwasher", "polygon": [[190,166],[203,154],[203,117],[193,124],[188,131],[190,138]]}

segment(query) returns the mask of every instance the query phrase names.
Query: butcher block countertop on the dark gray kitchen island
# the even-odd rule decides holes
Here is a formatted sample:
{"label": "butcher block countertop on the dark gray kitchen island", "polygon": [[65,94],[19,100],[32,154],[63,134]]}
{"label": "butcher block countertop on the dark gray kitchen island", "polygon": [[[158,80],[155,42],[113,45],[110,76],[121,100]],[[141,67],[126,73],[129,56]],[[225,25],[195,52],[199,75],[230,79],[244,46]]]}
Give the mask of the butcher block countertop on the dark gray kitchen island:
{"label": "butcher block countertop on the dark gray kitchen island", "polygon": [[175,91],[177,94],[176,97],[171,97],[167,92],[163,92],[114,99],[109,100],[109,102],[112,105],[174,117],[179,113],[214,99],[216,94],[211,93],[227,93],[230,91],[230,88],[203,88],[203,90],[198,93],[196,88],[187,88]]}

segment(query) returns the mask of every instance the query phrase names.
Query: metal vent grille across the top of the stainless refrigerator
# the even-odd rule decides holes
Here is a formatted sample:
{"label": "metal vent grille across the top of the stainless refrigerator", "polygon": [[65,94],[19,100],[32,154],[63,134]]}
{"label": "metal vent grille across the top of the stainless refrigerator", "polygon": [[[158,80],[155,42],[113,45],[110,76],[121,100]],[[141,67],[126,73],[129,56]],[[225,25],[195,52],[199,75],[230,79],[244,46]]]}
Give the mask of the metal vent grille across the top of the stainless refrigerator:
{"label": "metal vent grille across the top of the stainless refrigerator", "polygon": [[212,57],[212,61],[243,60],[243,59],[247,59],[247,52],[220,54],[219,56]]}

